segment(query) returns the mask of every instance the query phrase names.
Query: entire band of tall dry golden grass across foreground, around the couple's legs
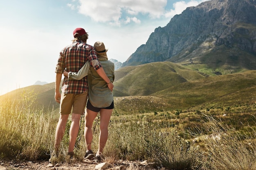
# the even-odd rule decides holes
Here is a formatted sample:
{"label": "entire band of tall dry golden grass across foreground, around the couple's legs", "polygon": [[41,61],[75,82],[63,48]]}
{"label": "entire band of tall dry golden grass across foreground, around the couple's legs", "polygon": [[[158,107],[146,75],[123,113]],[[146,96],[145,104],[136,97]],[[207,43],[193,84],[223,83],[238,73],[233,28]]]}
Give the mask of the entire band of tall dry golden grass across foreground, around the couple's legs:
{"label": "entire band of tall dry golden grass across foreground, around the couple's legs", "polygon": [[[0,101],[1,159],[47,160],[53,154],[58,109],[48,109],[45,112],[43,108],[33,108],[33,94],[26,95],[32,96],[23,97],[20,102]],[[115,164],[117,160],[123,159],[154,162],[156,169],[256,169],[256,131],[251,126],[241,124],[244,128],[243,133],[240,133],[232,126],[207,115],[201,118],[201,122],[197,119],[196,126],[194,124],[189,127],[172,122],[177,118],[186,119],[184,115],[175,115],[175,112],[159,115],[114,113],[109,125],[108,142],[103,151],[104,161],[109,163]],[[94,152],[98,147],[99,120],[100,118],[96,118],[93,126]],[[69,126],[70,121],[66,129]],[[83,129],[84,122],[81,118],[73,161],[81,161],[85,154]],[[56,162],[67,161],[65,155],[68,137],[67,130],[61,143],[62,154]],[[199,142],[193,143],[193,137],[197,137]]]}

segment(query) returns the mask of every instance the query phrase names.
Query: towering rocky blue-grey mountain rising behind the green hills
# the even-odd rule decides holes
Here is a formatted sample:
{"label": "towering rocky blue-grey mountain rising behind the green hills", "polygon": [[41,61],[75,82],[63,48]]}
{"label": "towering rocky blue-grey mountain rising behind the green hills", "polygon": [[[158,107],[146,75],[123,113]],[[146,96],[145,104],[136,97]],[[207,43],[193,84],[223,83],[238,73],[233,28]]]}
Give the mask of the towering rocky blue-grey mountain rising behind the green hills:
{"label": "towering rocky blue-grey mountain rising behind the green hills", "polygon": [[210,0],[188,7],[122,64],[171,61],[223,74],[256,69],[256,0]]}

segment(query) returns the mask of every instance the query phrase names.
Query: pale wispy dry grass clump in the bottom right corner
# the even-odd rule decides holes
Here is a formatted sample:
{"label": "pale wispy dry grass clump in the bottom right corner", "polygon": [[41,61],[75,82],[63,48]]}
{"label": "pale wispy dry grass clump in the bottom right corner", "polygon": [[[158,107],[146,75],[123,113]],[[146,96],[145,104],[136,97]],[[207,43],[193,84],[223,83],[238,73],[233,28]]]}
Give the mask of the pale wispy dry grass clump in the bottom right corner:
{"label": "pale wispy dry grass clump in the bottom right corner", "polygon": [[205,130],[210,135],[201,134],[198,137],[201,137],[208,151],[207,167],[214,170],[255,170],[255,129],[249,127],[247,134],[240,133],[220,120],[204,117],[208,120]]}

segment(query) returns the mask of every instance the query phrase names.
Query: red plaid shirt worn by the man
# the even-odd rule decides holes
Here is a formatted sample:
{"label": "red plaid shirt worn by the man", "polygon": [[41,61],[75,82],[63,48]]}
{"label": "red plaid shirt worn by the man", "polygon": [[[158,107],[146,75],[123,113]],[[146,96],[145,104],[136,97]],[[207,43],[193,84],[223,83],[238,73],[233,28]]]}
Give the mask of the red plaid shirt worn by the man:
{"label": "red plaid shirt worn by the man", "polygon": [[[80,40],[75,41],[71,45],[66,46],[63,48],[63,50],[61,50],[55,72],[62,74],[65,69],[67,72],[78,72],[88,60],[90,61],[90,65],[94,67],[94,70],[98,70],[102,67],[100,63],[95,66],[92,65],[92,60],[98,60],[93,46],[90,46]],[[61,87],[61,91],[63,93],[80,94],[86,92],[87,90],[87,76],[81,80],[71,80],[64,77]]]}

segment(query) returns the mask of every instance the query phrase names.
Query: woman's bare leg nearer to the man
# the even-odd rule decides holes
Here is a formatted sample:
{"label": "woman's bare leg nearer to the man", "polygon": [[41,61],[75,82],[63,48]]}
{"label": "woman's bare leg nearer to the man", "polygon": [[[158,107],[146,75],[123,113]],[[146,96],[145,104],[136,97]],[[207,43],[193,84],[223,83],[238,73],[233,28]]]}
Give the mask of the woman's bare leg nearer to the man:
{"label": "woman's bare leg nearer to the man", "polygon": [[84,137],[85,137],[85,144],[87,146],[87,150],[91,150],[91,144],[92,144],[92,138],[93,138],[92,124],[97,114],[98,112],[94,112],[86,108]]}

